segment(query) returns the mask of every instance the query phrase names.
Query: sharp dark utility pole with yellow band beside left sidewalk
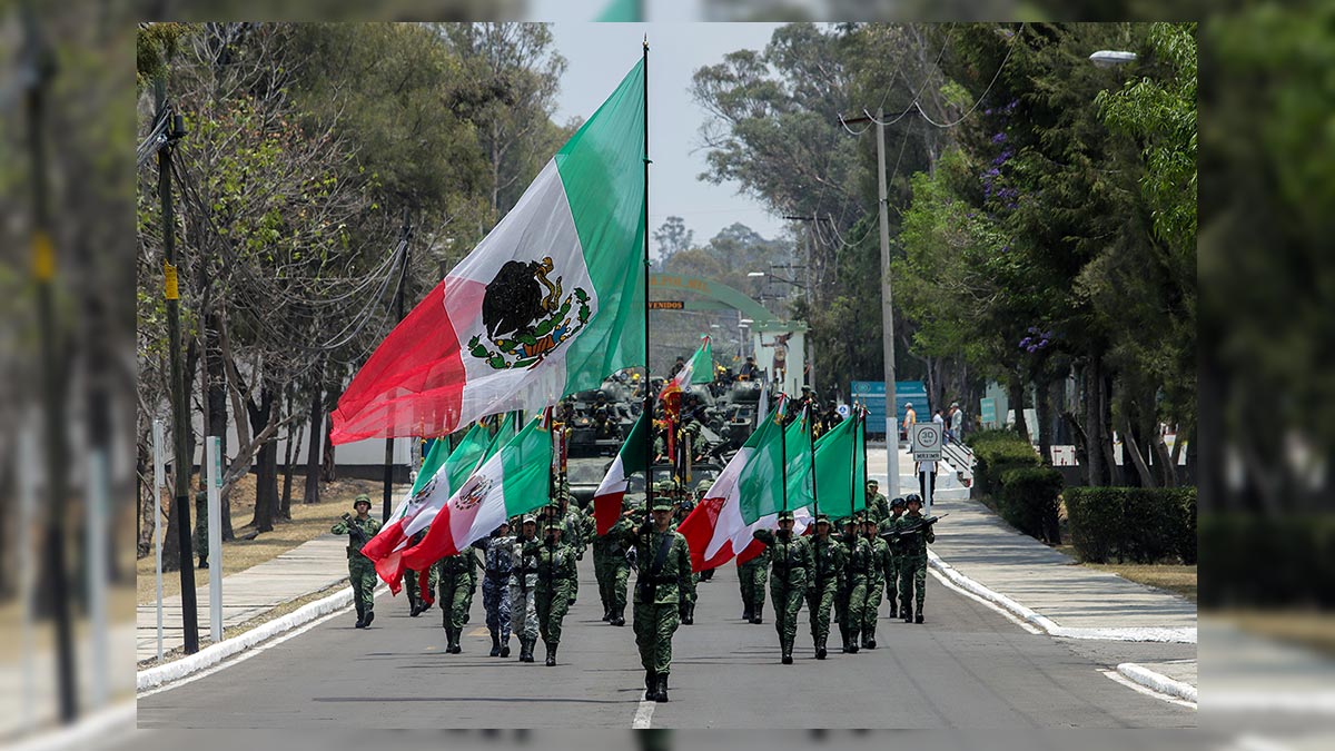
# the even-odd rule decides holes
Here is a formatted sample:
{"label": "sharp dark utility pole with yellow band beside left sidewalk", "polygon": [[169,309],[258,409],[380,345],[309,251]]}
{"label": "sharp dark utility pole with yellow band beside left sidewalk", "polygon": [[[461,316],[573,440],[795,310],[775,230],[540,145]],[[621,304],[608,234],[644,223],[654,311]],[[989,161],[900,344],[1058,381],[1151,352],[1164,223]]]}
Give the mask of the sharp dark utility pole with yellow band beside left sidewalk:
{"label": "sharp dark utility pole with yellow band beside left sidewalk", "polygon": [[[172,127],[167,143],[158,151],[158,196],[163,211],[163,277],[167,298],[167,351],[171,359],[171,412],[172,412],[172,512],[176,517],[176,540],[180,545],[180,619],[187,655],[199,651],[199,611],[195,603],[194,551],[191,548],[194,528],[190,524],[190,470],[194,457],[190,456],[190,412],[186,404],[186,374],[180,355],[180,290],[176,285],[176,215],[171,202],[171,155],[175,143],[186,135],[182,116],[167,104],[167,82],[158,79],[154,84],[158,95],[158,116],[171,118]],[[204,462],[200,461],[200,469]]]}

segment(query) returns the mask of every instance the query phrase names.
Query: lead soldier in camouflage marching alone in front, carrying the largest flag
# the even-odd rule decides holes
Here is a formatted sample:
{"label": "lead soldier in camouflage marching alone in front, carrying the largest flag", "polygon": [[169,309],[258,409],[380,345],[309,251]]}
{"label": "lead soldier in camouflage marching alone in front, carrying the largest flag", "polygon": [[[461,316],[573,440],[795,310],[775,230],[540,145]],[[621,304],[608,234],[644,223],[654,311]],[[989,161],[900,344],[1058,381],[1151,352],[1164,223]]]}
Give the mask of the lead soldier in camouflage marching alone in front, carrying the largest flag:
{"label": "lead soldier in camouflage marching alone in front, carrying the largest flag", "polygon": [[[690,583],[690,548],[672,527],[672,502],[654,498],[653,520],[622,536],[634,547],[639,572],[635,576],[635,645],[645,667],[645,700],[668,700],[672,671],[672,637],[677,632],[682,593]],[[634,516],[635,512],[626,512]]]}

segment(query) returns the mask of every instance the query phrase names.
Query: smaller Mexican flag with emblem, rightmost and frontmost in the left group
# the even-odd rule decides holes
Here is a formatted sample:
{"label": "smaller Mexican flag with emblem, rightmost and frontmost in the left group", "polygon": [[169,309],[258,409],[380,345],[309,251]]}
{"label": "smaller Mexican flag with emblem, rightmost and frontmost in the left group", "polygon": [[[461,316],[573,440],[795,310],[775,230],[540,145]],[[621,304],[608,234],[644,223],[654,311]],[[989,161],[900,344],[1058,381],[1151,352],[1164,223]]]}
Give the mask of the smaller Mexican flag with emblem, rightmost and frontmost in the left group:
{"label": "smaller Mexican flag with emblem, rightmost and frontmost in the left group", "polygon": [[435,516],[403,565],[423,571],[491,535],[502,521],[551,502],[551,426],[534,417],[518,436],[482,462]]}

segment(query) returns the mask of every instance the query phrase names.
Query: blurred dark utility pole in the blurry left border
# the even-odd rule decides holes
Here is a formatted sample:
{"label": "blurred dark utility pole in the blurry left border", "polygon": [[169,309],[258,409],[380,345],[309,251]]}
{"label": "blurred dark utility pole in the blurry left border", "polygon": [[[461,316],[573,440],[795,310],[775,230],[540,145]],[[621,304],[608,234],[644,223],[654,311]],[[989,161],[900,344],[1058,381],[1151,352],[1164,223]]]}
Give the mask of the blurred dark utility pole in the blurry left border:
{"label": "blurred dark utility pole in the blurry left border", "polygon": [[32,150],[32,275],[37,282],[37,326],[41,334],[41,401],[45,412],[47,508],[45,572],[51,583],[52,625],[56,629],[56,687],[60,691],[60,722],[77,719],[75,694],[75,652],[69,628],[69,580],[65,572],[65,414],[60,398],[56,362],[55,301],[56,250],[51,242],[51,212],[47,206],[45,87],[56,72],[56,60],[37,29],[31,3],[23,5],[25,27],[24,65],[28,68],[28,147]]}

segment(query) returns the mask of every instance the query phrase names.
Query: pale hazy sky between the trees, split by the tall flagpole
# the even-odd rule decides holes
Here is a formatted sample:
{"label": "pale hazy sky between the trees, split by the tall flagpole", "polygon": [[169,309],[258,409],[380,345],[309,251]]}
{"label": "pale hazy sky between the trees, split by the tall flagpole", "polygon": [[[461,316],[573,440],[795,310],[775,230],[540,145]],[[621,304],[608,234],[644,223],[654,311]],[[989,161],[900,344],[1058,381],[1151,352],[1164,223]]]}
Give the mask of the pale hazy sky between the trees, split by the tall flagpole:
{"label": "pale hazy sky between the trees, split by the tall flagpole", "polygon": [[555,48],[569,61],[557,96],[558,123],[591,115],[639,60],[641,41],[649,35],[650,233],[676,215],[694,231],[697,243],[734,222],[765,238],[782,234],[784,220],[758,200],[740,195],[737,183],[716,186],[696,179],[708,167],[700,148],[700,126],[708,115],[689,91],[696,68],[716,64],[736,49],[764,48],[777,24],[598,24],[561,20],[557,12],[538,17],[557,19],[551,27]]}

